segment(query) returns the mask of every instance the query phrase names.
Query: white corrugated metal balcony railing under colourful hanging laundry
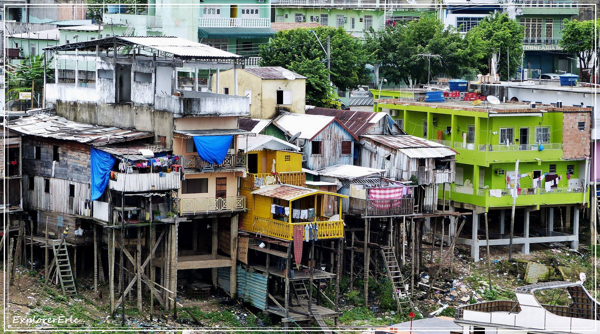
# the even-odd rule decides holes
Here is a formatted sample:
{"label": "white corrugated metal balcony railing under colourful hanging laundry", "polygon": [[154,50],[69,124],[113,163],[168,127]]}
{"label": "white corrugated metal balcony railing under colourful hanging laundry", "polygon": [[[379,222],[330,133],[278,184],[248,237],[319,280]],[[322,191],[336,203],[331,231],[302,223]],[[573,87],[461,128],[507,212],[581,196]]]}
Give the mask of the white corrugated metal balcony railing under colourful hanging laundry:
{"label": "white corrugated metal balcony railing under colourful hanging laundry", "polygon": [[151,190],[179,189],[181,173],[115,173],[109,180],[109,188],[119,192],[148,192]]}

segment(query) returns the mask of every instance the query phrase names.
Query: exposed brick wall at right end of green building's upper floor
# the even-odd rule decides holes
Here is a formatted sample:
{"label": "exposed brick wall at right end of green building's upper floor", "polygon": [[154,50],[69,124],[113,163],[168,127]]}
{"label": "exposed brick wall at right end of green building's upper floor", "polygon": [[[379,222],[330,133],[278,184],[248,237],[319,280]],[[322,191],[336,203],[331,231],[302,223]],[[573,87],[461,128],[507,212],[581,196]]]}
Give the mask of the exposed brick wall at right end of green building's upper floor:
{"label": "exposed brick wall at right end of green building's upper floor", "polygon": [[[579,130],[585,122],[585,130]],[[590,112],[565,112],[563,114],[563,158],[583,159],[590,155],[592,115]]]}

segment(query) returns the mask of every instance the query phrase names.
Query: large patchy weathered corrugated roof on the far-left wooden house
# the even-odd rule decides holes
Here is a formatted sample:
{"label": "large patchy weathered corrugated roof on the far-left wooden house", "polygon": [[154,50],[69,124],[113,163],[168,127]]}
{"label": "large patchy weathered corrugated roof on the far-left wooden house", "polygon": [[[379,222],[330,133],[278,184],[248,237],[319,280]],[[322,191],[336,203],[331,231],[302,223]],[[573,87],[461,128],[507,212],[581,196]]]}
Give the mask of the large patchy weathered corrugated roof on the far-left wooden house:
{"label": "large patchy weathered corrugated roof on the far-left wooden house", "polygon": [[76,123],[64,117],[49,115],[34,115],[10,121],[8,128],[22,135],[76,141],[91,145],[106,145],[154,136],[152,132]]}

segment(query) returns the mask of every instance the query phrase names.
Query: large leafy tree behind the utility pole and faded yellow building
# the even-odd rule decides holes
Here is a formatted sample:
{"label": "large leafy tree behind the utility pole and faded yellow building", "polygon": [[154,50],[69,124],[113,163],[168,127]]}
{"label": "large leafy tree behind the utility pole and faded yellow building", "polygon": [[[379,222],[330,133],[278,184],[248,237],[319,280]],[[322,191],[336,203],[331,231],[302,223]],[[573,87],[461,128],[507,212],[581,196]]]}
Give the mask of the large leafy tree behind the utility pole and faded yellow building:
{"label": "large leafy tree behind the utility pole and faded yellow building", "polygon": [[[261,66],[281,66],[308,77],[307,99],[316,105],[331,105],[335,93],[327,79],[341,90],[358,87],[368,80],[365,65],[370,56],[361,42],[343,28],[319,26],[313,29],[323,47],[310,29],[297,28],[277,32],[271,41],[260,46]],[[326,40],[331,44],[331,73],[327,70]],[[323,102],[325,101],[325,102]]]}

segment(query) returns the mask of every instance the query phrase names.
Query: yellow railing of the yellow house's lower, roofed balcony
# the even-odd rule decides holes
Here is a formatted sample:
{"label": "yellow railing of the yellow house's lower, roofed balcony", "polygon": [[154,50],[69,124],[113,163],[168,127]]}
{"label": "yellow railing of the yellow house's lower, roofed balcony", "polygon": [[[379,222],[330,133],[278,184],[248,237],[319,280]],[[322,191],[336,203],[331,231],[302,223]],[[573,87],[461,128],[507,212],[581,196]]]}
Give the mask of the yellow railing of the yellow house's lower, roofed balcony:
{"label": "yellow railing of the yellow house's lower, roofed balcony", "polygon": [[[317,219],[326,218],[327,217],[317,217]],[[317,240],[344,237],[344,220],[319,220],[313,223],[317,223]],[[283,240],[293,240],[293,226],[304,226],[306,224],[307,222],[287,223],[271,218],[254,217],[252,229],[256,233],[270,235],[271,237]],[[306,240],[305,232],[302,234],[302,238]]]}

